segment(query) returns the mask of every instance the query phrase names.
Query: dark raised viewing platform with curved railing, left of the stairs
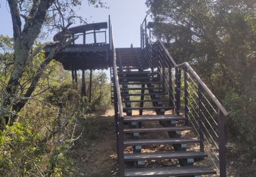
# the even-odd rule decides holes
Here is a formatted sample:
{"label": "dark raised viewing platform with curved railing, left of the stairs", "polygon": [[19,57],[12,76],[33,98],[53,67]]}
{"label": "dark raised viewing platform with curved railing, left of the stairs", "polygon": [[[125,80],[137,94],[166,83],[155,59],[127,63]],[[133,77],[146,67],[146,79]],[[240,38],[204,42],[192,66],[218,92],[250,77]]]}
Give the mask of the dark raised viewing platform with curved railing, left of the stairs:
{"label": "dark raised viewing platform with curved railing, left of the stairs", "polygon": [[[68,41],[74,38],[72,44],[66,46],[55,54],[55,60],[62,63],[64,69],[70,71],[87,69],[108,69],[110,44],[107,40],[110,34],[108,22],[98,22],[72,27],[57,33],[53,40],[56,42],[61,37]],[[49,50],[46,49],[46,52]]]}

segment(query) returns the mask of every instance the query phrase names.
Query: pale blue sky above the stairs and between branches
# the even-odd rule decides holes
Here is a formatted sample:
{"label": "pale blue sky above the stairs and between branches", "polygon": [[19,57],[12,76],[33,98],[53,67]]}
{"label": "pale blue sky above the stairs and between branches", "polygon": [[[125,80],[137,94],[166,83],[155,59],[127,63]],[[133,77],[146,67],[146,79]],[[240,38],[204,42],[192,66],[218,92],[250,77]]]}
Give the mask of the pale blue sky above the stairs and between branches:
{"label": "pale blue sky above the stairs and between branches", "polygon": [[[103,0],[109,9],[89,6],[84,0],[77,14],[87,18],[87,22],[104,22],[111,15],[116,47],[140,46],[140,24],[146,15],[145,0]],[[12,36],[12,19],[5,0],[0,0],[0,34]],[[46,40],[53,40],[49,35]]]}

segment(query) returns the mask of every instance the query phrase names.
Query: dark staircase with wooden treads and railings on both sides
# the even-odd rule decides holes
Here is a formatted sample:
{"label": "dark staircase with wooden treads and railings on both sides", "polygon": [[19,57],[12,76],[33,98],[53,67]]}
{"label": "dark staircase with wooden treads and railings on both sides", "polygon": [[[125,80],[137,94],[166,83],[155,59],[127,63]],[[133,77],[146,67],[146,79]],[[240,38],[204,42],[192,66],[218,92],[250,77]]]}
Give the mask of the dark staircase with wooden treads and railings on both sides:
{"label": "dark staircase with wooden treads and railings on both sides", "polygon": [[[111,59],[119,176],[226,176],[227,111],[188,63],[177,65],[162,42],[150,40],[146,20],[141,25],[141,48],[115,48],[111,27]],[[156,122],[158,126],[148,127]],[[184,131],[195,136],[187,137]],[[162,132],[169,138],[150,138]],[[171,148],[143,151],[160,145]],[[200,164],[205,158],[212,159],[212,167]],[[173,159],[178,164],[145,165]]]}

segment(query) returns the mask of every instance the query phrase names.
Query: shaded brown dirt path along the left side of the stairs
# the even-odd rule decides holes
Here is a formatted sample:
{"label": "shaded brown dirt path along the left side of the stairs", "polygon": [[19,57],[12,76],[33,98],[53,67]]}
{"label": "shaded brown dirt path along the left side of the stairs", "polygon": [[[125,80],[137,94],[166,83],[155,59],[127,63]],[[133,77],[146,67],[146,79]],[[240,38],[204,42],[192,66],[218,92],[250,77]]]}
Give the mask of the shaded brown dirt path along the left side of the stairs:
{"label": "shaded brown dirt path along the left side of the stairs", "polygon": [[74,176],[116,176],[115,123],[113,110],[98,110],[79,118],[82,137],[71,150]]}

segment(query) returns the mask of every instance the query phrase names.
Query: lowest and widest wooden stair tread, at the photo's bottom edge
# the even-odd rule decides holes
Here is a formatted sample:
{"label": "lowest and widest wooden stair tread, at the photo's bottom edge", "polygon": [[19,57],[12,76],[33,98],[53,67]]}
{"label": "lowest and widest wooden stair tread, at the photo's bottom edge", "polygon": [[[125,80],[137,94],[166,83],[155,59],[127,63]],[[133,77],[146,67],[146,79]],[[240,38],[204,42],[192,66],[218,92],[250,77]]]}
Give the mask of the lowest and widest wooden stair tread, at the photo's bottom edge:
{"label": "lowest and widest wooden stair tread, at the photo's bottom edge", "polygon": [[124,176],[199,176],[216,174],[208,167],[154,167],[154,168],[135,168],[124,170]]}

